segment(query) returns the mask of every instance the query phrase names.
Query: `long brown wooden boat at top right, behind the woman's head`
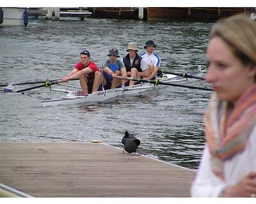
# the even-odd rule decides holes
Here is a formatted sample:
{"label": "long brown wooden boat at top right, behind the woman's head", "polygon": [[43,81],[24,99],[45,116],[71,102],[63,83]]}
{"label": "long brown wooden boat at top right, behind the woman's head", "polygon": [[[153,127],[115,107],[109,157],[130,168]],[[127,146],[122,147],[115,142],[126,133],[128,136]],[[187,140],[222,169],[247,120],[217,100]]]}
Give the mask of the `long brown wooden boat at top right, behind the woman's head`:
{"label": "long brown wooden boat at top right, behind the woman's head", "polygon": [[147,18],[191,21],[216,21],[237,13],[252,13],[254,8],[241,7],[148,7]]}

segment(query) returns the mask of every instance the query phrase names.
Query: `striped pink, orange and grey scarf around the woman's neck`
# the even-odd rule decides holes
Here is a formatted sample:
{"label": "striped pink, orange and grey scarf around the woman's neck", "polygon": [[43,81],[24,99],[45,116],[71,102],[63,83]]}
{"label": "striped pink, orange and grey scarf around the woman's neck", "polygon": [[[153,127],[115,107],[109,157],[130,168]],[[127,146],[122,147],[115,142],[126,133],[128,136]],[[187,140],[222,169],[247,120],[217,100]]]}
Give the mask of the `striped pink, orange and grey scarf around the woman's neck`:
{"label": "striped pink, orange and grey scarf around the woman's neck", "polygon": [[[229,115],[229,117],[228,117]],[[225,180],[223,164],[246,147],[256,124],[256,84],[237,100],[234,108],[212,94],[205,112],[205,135],[211,153],[212,171]]]}

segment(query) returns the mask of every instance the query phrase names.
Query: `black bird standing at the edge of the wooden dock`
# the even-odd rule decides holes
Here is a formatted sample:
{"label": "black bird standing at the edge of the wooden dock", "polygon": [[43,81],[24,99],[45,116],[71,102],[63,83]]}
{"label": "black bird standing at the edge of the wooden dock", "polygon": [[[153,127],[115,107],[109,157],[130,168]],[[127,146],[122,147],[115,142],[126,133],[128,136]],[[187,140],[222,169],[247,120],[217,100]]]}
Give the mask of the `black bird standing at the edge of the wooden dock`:
{"label": "black bird standing at the edge of the wooden dock", "polygon": [[[125,131],[124,136],[122,138],[122,144],[124,145],[124,150],[128,153],[135,152],[140,145],[140,140],[136,138],[134,135],[130,135],[128,131]],[[124,151],[123,151],[124,153]]]}

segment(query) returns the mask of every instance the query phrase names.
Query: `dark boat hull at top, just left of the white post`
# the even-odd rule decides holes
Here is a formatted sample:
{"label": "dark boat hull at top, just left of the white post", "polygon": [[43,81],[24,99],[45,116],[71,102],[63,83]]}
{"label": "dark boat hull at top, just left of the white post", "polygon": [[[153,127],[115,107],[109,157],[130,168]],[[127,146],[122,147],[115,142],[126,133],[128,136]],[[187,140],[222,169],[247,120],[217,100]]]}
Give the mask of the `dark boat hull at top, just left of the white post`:
{"label": "dark boat hull at top, just left of the white post", "polygon": [[139,8],[135,7],[93,7],[92,17],[138,20]]}

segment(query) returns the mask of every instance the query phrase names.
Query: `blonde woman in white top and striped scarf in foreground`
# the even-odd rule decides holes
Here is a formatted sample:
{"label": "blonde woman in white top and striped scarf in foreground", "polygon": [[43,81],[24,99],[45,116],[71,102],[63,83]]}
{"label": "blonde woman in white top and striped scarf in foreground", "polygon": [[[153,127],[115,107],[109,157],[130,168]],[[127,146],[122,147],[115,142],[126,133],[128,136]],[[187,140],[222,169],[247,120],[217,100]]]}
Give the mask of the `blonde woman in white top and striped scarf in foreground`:
{"label": "blonde woman in white top and striped scarf in foreground", "polygon": [[193,197],[256,197],[256,22],[220,20],[207,48],[212,83]]}

